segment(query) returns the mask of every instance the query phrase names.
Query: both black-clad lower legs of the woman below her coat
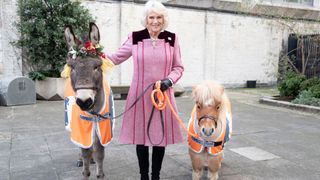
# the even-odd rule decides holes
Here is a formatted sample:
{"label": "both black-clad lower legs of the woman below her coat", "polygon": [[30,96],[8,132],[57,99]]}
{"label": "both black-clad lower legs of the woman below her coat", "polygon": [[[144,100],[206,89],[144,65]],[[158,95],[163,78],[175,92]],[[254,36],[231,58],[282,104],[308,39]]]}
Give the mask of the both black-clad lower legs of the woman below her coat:
{"label": "both black-clad lower legs of the woman below her coat", "polygon": [[[137,157],[139,161],[139,168],[141,180],[149,180],[149,147],[144,145],[137,145]],[[165,147],[152,147],[152,166],[151,179],[160,179],[160,170],[165,153]]]}

